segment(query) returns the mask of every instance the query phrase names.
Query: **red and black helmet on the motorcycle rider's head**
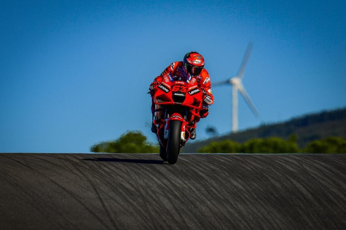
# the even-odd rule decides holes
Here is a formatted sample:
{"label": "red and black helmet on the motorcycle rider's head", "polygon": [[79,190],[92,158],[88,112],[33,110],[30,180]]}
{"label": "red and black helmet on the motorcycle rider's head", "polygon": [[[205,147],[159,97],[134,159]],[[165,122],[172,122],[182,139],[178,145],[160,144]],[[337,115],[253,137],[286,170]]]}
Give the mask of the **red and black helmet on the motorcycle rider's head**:
{"label": "red and black helmet on the motorcycle rider's head", "polygon": [[201,54],[190,51],[184,56],[184,68],[192,76],[198,76],[204,67],[204,59]]}

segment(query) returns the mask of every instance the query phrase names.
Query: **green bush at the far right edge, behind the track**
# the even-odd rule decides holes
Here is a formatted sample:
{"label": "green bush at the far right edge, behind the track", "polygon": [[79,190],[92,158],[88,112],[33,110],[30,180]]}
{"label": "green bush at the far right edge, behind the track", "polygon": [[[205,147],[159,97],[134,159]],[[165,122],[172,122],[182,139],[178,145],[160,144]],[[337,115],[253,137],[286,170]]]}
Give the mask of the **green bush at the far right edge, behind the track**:
{"label": "green bush at the far right edge, behind the track", "polygon": [[341,137],[327,137],[311,141],[304,149],[306,153],[346,153],[346,140]]}

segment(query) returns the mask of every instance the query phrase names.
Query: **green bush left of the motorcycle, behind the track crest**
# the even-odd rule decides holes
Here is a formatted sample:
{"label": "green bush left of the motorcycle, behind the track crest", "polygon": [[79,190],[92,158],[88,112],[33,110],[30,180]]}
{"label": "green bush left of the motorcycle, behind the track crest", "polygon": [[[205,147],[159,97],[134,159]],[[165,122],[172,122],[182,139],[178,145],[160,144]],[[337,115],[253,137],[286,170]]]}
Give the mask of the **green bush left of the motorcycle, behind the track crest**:
{"label": "green bush left of the motorcycle, behind the track crest", "polygon": [[128,131],[114,141],[104,141],[90,148],[91,152],[158,153],[159,147],[147,141],[140,131]]}

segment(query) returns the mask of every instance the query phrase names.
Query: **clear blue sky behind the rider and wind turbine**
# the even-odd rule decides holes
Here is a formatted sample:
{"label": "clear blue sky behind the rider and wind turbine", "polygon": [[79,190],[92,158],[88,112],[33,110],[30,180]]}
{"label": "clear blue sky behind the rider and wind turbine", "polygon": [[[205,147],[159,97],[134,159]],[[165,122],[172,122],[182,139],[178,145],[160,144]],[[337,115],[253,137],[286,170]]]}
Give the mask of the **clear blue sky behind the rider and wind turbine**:
{"label": "clear blue sky behind the rider and wind turbine", "polygon": [[[151,81],[190,50],[211,81],[254,43],[239,128],[346,106],[345,1],[16,1],[0,8],[0,152],[88,152],[151,121]],[[231,129],[231,88],[198,124]]]}

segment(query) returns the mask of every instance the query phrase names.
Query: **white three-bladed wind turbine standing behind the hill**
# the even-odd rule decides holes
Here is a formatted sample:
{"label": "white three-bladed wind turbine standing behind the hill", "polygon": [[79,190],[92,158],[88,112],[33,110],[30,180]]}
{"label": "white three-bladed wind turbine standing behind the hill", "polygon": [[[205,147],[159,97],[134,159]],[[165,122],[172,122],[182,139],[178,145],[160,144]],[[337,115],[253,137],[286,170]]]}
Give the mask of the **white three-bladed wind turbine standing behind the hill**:
{"label": "white three-bladed wind turbine standing behind the hill", "polygon": [[223,86],[223,85],[229,85],[229,84],[232,85],[232,131],[233,132],[238,131],[238,90],[242,94],[243,98],[245,99],[247,105],[249,106],[253,114],[256,117],[259,116],[254,104],[252,103],[249,95],[246,93],[242,83],[245,66],[250,57],[251,49],[252,49],[252,42],[250,42],[247,46],[247,49],[246,49],[242,64],[240,65],[240,68],[238,70],[237,76],[231,77],[225,81],[220,81],[220,82],[216,82],[212,84],[213,86]]}

